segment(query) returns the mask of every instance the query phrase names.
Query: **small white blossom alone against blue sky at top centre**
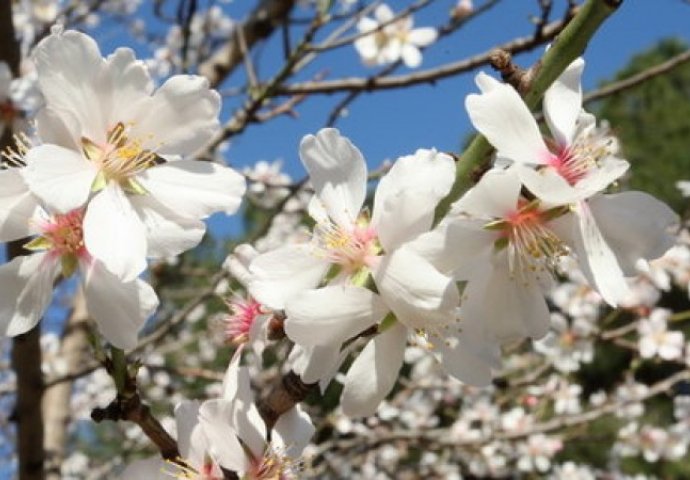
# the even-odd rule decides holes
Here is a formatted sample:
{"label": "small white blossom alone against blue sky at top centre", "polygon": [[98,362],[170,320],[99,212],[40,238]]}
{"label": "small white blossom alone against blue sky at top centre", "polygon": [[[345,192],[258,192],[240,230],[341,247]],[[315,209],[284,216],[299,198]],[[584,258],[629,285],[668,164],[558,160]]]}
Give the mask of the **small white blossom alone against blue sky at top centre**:
{"label": "small white blossom alone against blue sky at top centre", "polygon": [[413,29],[411,15],[395,18],[388,5],[381,4],[374,10],[375,19],[362,18],[357,30],[366,34],[355,40],[355,48],[367,65],[385,65],[402,61],[410,68],[422,63],[420,48],[432,44],[438,36],[431,27]]}

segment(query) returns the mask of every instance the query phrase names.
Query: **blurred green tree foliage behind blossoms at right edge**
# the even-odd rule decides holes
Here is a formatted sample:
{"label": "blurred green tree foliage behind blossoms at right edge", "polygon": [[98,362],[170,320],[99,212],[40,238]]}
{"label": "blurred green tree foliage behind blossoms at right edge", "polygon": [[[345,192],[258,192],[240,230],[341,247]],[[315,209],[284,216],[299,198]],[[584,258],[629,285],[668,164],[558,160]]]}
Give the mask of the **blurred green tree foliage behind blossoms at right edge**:
{"label": "blurred green tree foliage behind blossoms at right edge", "polygon": [[[678,39],[661,41],[636,55],[614,80],[621,80],[668,60],[688,49]],[[631,163],[631,189],[643,190],[671,205],[687,207],[676,189],[690,179],[690,63],[648,80],[598,105],[621,140],[623,157]]]}

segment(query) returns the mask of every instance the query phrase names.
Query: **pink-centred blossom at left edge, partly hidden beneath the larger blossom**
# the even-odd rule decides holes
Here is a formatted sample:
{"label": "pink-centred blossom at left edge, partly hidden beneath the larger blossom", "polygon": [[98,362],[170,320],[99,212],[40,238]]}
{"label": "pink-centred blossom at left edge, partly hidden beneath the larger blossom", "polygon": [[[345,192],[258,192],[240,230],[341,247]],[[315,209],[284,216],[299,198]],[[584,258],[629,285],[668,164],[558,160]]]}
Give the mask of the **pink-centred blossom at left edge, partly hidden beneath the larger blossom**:
{"label": "pink-centred blossom at left edge, partly hidden beneath the larger blossom", "polygon": [[40,208],[25,219],[31,233],[38,234],[25,245],[35,253],[0,266],[0,333],[16,336],[33,328],[50,304],[57,278],[78,270],[87,309],[106,340],[122,349],[136,346],[137,333],[158,306],[158,298],[144,281],[122,282],[90,255],[83,219],[83,209],[50,215]]}

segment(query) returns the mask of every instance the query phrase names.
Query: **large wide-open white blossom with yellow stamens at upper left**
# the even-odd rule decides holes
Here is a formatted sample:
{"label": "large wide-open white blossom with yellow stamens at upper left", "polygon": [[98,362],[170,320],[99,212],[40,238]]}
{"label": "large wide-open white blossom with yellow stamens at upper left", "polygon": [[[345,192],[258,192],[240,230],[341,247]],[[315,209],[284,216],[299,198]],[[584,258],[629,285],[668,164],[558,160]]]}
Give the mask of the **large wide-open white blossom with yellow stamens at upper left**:
{"label": "large wide-open white blossom with yellow stamens at upper left", "polygon": [[184,159],[218,129],[220,98],[205,79],[178,75],[154,91],[131,50],[104,59],[91,37],[59,28],[33,59],[44,144],[26,153],[26,181],[56,211],[86,206],[86,247],[113,274],[132,280],[147,256],[196,245],[200,219],[237,210],[241,175]]}

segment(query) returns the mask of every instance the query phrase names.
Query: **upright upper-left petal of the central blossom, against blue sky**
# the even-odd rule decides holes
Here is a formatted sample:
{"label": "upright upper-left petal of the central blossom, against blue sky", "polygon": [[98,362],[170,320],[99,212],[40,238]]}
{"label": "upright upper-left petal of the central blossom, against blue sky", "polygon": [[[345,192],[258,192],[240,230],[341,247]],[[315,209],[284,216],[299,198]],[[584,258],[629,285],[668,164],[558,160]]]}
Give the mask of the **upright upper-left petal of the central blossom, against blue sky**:
{"label": "upright upper-left petal of the central blossom, against blue sky", "polygon": [[364,204],[367,167],[350,140],[334,128],[307,135],[300,143],[300,158],[329,216],[351,228]]}

